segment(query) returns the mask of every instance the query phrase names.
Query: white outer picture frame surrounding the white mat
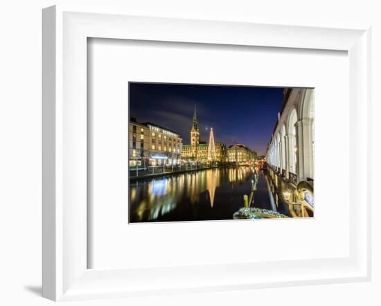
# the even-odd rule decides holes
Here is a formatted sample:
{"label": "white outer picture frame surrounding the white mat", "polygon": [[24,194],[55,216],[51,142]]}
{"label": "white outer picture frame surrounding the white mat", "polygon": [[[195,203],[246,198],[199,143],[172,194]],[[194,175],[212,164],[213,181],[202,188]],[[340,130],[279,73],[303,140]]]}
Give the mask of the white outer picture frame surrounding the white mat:
{"label": "white outer picture frame surrounding the white mat", "polygon": [[[356,176],[362,180],[349,195],[348,256],[192,267],[87,269],[88,37],[347,51],[351,82],[348,108],[353,123],[351,159],[357,158],[357,147],[361,145],[364,165],[356,168]],[[370,37],[369,28],[106,15],[61,6],[44,9],[43,296],[78,300],[370,280]],[[358,205],[360,202],[366,204]]]}

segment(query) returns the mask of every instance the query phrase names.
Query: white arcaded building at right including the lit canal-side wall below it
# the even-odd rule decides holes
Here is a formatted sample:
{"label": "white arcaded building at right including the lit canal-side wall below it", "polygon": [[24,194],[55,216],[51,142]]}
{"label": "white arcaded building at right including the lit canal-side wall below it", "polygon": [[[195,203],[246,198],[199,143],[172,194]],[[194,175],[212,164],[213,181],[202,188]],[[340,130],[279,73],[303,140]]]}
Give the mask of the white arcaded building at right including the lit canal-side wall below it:
{"label": "white arcaded building at right including the lit canal-side wall below it", "polygon": [[313,215],[314,90],[285,89],[266,152],[269,183],[276,201],[303,206],[301,215]]}

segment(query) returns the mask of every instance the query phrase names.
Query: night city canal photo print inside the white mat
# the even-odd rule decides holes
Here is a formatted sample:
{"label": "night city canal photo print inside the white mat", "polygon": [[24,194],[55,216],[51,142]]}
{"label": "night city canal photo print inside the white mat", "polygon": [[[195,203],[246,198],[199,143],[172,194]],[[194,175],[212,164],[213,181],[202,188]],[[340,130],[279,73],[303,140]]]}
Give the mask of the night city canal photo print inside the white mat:
{"label": "night city canal photo print inside the white mat", "polygon": [[129,96],[129,222],[313,217],[314,89],[131,82]]}

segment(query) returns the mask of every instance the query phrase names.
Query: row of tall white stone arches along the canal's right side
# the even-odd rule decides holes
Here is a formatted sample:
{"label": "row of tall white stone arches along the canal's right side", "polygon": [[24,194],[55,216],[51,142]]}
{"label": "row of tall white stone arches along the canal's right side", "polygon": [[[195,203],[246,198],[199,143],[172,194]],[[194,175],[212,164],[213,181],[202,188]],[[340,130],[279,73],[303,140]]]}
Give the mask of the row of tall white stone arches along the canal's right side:
{"label": "row of tall white stone arches along the canal's right side", "polygon": [[287,179],[314,179],[314,89],[285,89],[267,163]]}

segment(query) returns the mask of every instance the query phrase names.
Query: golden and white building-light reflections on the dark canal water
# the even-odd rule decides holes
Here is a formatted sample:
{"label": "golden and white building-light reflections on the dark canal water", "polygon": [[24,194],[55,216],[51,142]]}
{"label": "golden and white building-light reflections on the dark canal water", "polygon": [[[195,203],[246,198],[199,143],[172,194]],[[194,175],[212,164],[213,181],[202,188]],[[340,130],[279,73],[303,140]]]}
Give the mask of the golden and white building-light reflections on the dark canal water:
{"label": "golden and white building-light reflections on the dark canal water", "polygon": [[[253,171],[254,168],[249,166],[206,169],[202,172],[184,172],[173,177],[156,178],[148,183],[136,183],[136,186],[130,185],[130,205],[134,208],[133,222],[157,219],[163,221],[161,217],[175,210],[183,197],[186,197],[190,204],[206,201],[209,207],[215,209],[219,204],[220,184],[223,184],[224,188],[240,188],[239,183],[247,180],[249,176],[251,179]],[[290,192],[292,193],[291,190]]]}

